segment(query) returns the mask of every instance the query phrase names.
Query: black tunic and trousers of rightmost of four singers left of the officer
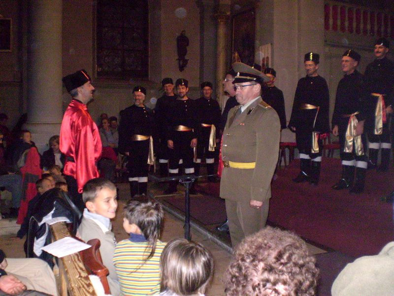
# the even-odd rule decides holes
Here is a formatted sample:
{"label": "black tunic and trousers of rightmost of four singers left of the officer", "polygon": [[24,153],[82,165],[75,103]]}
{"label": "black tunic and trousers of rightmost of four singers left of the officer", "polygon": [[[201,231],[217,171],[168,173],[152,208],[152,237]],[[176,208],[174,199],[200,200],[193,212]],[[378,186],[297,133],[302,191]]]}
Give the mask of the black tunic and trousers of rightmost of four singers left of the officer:
{"label": "black tunic and trousers of rightmost of four singers left of the officer", "polygon": [[202,158],[205,152],[206,158],[214,158],[215,151],[209,151],[209,135],[211,132],[211,127],[207,125],[215,125],[216,135],[215,139],[220,138],[219,128],[220,128],[220,107],[219,103],[214,99],[205,99],[204,97],[196,100],[197,104],[197,116],[201,123],[198,142],[197,142],[197,158]]}

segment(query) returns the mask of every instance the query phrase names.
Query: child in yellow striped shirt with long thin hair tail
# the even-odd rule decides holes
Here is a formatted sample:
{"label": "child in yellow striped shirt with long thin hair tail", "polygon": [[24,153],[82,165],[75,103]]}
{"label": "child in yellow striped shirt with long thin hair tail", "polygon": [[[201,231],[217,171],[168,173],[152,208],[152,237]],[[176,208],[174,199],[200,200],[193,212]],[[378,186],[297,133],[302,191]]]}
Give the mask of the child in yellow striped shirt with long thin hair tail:
{"label": "child in yellow striped shirt with long thin hair tail", "polygon": [[154,295],[160,291],[160,256],[165,243],[159,240],[164,212],[159,203],[129,202],[123,227],[130,238],[115,248],[114,265],[122,294]]}

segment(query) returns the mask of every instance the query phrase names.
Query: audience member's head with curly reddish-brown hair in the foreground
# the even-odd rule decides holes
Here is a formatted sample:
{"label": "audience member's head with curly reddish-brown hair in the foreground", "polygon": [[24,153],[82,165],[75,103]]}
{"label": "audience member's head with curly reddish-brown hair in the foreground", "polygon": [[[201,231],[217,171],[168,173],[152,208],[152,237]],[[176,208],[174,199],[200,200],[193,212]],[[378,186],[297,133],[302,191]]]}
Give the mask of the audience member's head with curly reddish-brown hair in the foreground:
{"label": "audience member's head with curly reddish-brown hair in the foreground", "polygon": [[226,271],[226,296],[313,296],[318,276],[304,241],[265,227],[247,236]]}

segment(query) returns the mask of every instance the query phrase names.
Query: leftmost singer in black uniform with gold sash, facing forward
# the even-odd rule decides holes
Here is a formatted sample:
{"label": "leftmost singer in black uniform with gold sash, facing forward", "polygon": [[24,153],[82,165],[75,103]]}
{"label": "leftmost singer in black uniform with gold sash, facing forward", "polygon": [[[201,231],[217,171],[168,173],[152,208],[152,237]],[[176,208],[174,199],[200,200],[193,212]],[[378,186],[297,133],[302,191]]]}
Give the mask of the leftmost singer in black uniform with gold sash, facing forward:
{"label": "leftmost singer in black uniform with gold sash, facing forward", "polygon": [[144,105],[146,89],[132,90],[134,104],[120,112],[119,151],[129,155],[131,197],[146,194],[149,164],[153,164],[154,114]]}

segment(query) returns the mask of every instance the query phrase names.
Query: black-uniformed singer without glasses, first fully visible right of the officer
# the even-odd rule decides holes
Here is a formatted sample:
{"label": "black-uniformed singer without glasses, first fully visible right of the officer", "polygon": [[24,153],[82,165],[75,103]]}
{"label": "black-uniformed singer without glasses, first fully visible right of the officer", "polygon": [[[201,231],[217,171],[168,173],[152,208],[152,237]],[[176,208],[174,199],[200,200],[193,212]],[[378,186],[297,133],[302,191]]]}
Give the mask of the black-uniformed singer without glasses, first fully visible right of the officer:
{"label": "black-uniformed singer without glasses, first fully visible right of the officer", "polygon": [[323,143],[320,135],[329,132],[329,95],[326,79],[319,76],[319,54],[304,56],[306,76],[298,80],[289,129],[296,133],[300,172],[296,183],[318,185]]}

